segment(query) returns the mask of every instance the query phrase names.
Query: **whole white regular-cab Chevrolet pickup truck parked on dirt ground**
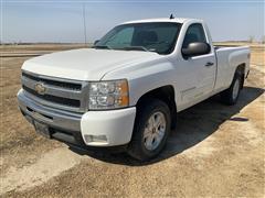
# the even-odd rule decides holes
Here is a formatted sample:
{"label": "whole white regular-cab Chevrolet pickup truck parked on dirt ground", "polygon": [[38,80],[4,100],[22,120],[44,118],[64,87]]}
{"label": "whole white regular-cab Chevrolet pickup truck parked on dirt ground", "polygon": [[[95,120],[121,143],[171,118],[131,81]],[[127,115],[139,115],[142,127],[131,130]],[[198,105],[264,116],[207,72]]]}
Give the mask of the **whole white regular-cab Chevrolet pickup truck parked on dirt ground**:
{"label": "whole white regular-cab Chevrolet pickup truck parked on dirt ground", "polygon": [[146,161],[162,151],[179,111],[216,94],[234,105],[248,70],[250,48],[213,46],[202,20],[131,21],[92,48],[26,61],[18,100],[47,138],[123,146]]}

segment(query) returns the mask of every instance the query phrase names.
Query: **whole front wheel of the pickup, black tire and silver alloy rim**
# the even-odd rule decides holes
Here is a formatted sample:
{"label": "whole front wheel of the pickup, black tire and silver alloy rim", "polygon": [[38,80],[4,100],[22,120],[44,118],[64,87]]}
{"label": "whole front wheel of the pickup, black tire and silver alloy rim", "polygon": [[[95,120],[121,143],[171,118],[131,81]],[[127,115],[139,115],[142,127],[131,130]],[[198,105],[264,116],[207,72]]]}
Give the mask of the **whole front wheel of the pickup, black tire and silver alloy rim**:
{"label": "whole front wheel of the pickup, black tire and silver alloy rim", "polygon": [[157,156],[170,132],[170,110],[161,100],[151,99],[137,107],[137,117],[128,153],[139,161]]}

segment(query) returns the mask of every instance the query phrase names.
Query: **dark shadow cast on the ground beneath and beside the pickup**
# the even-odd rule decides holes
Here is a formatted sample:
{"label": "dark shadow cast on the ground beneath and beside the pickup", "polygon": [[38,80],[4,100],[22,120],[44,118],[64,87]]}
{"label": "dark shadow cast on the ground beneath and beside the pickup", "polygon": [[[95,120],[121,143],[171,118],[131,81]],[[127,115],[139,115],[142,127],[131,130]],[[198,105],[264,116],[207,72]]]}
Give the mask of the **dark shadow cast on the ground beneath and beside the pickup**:
{"label": "dark shadow cast on the ground beneath and beside the pickup", "polygon": [[241,109],[254,101],[263,92],[264,89],[262,88],[244,87],[235,106],[224,106],[220,103],[218,97],[214,97],[180,112],[178,114],[177,129],[171,132],[163,152],[157,158],[149,162],[140,163],[125,153],[115,154],[108,152],[81,151],[76,148],[71,150],[81,155],[88,155],[113,164],[142,166],[158,163],[199,144],[213,134],[226,120],[247,122],[247,118],[233,116],[239,113]]}

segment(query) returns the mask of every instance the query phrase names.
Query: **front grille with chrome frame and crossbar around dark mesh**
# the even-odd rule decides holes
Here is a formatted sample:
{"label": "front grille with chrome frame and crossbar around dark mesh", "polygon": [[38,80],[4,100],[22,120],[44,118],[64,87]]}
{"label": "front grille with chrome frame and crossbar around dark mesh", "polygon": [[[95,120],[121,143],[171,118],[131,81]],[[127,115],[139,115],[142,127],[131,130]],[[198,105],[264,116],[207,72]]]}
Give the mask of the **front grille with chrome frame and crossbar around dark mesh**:
{"label": "front grille with chrome frame and crossbar around dark mesh", "polygon": [[[21,81],[25,95],[39,103],[68,111],[87,110],[87,81],[54,78],[28,72],[22,72]],[[44,94],[35,90],[38,84],[44,86]]]}

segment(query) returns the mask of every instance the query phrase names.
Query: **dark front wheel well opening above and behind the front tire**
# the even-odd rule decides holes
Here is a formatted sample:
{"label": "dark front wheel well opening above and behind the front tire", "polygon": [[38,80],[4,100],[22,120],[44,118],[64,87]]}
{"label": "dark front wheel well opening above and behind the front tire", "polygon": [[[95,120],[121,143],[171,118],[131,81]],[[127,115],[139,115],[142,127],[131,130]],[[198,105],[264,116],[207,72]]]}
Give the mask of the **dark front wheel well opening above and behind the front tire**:
{"label": "dark front wheel well opening above and behind the front tire", "polygon": [[163,86],[163,87],[159,87],[157,89],[150,90],[148,92],[146,92],[145,95],[142,95],[136,107],[138,107],[141,102],[144,101],[148,101],[148,99],[150,98],[156,98],[159,100],[162,100],[163,102],[166,102],[169,107],[170,110],[170,116],[171,116],[171,129],[176,128],[176,121],[177,121],[177,106],[176,106],[176,101],[174,101],[174,88],[173,86],[169,85],[169,86]]}

